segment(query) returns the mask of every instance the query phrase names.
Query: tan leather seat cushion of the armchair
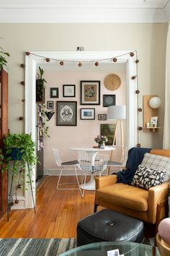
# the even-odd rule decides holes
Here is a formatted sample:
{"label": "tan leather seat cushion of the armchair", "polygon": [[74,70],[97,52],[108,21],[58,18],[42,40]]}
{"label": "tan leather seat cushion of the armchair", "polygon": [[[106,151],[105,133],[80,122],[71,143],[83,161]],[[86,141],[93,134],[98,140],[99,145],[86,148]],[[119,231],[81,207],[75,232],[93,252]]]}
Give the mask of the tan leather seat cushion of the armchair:
{"label": "tan leather seat cushion of the armchair", "polygon": [[[138,187],[117,183],[111,186],[97,189],[96,197],[100,202],[120,205],[141,212],[148,210],[148,190]],[[100,204],[97,202],[97,204]]]}

